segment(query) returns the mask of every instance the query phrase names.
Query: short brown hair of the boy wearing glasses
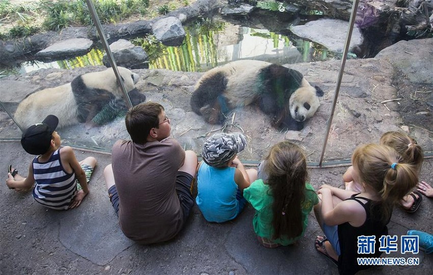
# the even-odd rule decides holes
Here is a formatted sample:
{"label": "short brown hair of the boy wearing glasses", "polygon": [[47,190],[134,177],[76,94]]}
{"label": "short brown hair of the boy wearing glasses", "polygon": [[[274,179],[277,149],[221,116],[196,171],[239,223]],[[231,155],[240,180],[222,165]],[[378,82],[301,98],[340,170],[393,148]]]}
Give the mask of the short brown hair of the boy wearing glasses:
{"label": "short brown hair of the boy wearing glasses", "polygon": [[146,102],[128,110],[125,116],[126,130],[135,143],[146,143],[152,128],[159,128],[158,115],[164,107],[156,102]]}

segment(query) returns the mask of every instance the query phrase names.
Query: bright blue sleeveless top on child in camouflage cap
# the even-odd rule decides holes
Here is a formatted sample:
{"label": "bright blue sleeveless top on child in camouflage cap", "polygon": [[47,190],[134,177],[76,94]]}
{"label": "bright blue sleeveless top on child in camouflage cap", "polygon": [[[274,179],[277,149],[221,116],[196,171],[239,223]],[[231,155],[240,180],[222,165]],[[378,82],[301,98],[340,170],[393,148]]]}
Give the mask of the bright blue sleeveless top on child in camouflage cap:
{"label": "bright blue sleeveless top on child in camouflage cap", "polygon": [[236,199],[236,168],[215,168],[202,162],[197,173],[196,203],[208,222],[230,221],[242,210]]}

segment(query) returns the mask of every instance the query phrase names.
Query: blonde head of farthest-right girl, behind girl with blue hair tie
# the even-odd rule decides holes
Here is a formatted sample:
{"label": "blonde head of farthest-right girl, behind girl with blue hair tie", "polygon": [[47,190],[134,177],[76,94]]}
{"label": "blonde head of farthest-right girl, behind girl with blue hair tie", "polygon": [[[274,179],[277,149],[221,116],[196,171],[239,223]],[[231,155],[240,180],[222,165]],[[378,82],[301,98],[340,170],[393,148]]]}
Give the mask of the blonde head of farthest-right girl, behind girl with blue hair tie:
{"label": "blonde head of farthest-right girl, behind girl with blue hair tie", "polygon": [[404,132],[386,132],[382,135],[381,144],[394,148],[405,163],[413,164],[421,170],[424,160],[423,151],[416,140]]}

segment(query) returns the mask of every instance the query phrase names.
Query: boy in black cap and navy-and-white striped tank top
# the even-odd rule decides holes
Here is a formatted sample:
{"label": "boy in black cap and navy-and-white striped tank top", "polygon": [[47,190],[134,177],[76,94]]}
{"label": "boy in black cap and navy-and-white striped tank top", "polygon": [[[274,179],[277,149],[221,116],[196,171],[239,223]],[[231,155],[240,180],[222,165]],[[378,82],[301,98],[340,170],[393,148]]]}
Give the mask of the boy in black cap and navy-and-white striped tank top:
{"label": "boy in black cap and navy-and-white striped tank top", "polygon": [[[71,147],[60,148],[61,140],[55,131],[59,119],[48,115],[42,123],[24,131],[21,145],[31,155],[38,155],[30,164],[29,174],[22,177],[12,169],[6,184],[10,189],[33,189],[35,200],[45,207],[66,210],[80,205],[89,194],[88,180],[96,166],[96,159],[76,160]],[[77,180],[79,185],[77,185]]]}

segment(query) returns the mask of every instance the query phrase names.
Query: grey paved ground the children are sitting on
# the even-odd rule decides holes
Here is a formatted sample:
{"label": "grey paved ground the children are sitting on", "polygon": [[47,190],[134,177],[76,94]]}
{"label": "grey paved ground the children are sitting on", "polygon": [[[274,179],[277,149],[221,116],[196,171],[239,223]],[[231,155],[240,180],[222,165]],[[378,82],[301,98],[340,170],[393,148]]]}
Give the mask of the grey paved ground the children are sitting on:
{"label": "grey paved ground the children are sitting on", "polygon": [[[111,156],[75,150],[78,160],[94,156],[98,166],[91,193],[76,209],[55,211],[36,203],[31,193],[17,193],[5,184],[11,163],[26,175],[32,156],[17,141],[0,145],[1,274],[337,274],[331,261],[314,248],[322,234],[312,213],[305,234],[290,247],[266,249],[252,227],[254,210],[247,206],[234,221],[208,223],[195,206],[184,230],[172,241],[141,246],[121,232],[107,197],[102,171]],[[425,161],[421,179],[433,183],[433,160]],[[311,169],[311,184],[342,184],[346,167]],[[433,200],[424,197],[412,215],[396,208],[391,235],[408,229],[432,232]],[[400,251],[400,250],[399,250]],[[417,266],[384,266],[360,274],[431,274],[433,255],[391,253],[385,257],[416,257]]]}

